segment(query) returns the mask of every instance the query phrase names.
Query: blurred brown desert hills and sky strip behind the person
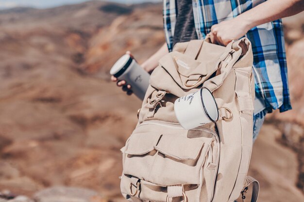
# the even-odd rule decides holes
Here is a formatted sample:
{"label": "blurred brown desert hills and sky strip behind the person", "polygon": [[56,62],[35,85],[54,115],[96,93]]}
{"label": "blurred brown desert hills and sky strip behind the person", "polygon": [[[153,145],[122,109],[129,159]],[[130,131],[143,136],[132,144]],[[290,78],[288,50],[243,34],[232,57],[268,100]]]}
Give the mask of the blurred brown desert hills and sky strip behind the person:
{"label": "blurred brown desert hills and sky strip behind the person", "polygon": [[[119,149],[141,102],[109,69],[152,55],[162,23],[159,0],[0,0],[0,202],[124,201]],[[284,31],[293,110],[254,144],[261,202],[304,201],[304,13]]]}

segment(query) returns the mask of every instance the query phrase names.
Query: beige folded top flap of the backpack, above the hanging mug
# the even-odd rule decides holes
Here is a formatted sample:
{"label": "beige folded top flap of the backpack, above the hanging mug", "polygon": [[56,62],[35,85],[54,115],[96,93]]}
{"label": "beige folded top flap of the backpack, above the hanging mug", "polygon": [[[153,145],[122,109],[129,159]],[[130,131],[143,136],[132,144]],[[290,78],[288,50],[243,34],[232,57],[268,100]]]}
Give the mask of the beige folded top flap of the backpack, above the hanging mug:
{"label": "beige folded top flap of the backpack, above the hanging mug", "polygon": [[[178,47],[174,48],[172,52],[159,60],[159,66],[151,75],[150,84],[152,87],[164,88],[164,83],[159,82],[159,79],[163,78],[167,83],[165,85],[168,88],[166,91],[178,94],[180,90],[184,90],[184,92],[189,93],[191,89],[200,86],[217,71],[218,57],[223,53],[225,47],[203,40],[192,40],[188,42],[185,51],[177,50],[179,50]],[[184,93],[181,96],[183,95]]]}

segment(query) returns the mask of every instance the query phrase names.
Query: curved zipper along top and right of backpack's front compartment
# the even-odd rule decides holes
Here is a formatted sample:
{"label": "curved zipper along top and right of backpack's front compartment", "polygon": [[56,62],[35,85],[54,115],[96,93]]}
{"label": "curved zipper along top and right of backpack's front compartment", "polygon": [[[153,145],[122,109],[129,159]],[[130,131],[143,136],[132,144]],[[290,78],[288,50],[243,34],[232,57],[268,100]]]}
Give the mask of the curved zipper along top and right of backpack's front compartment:
{"label": "curved zipper along top and right of backpack's front compartment", "polygon": [[[178,129],[183,129],[183,130],[187,130],[185,128],[183,128],[180,124],[178,123],[171,123],[171,122],[165,122],[165,121],[159,121],[159,120],[149,120],[149,121],[144,121],[142,122],[141,124],[139,124],[138,126],[140,125],[147,125],[147,124],[154,124],[154,125],[160,125],[160,126],[166,126],[166,127],[173,127],[173,128],[178,128]],[[196,130],[201,130],[201,131],[206,131],[206,132],[210,132],[216,139],[216,142],[217,142],[217,146],[218,146],[218,159],[217,159],[217,168],[216,168],[216,171],[214,173],[214,177],[213,177],[213,186],[214,188],[212,189],[212,192],[211,192],[211,201],[213,199],[213,195],[214,195],[214,191],[215,191],[215,181],[217,179],[217,174],[218,174],[218,171],[219,171],[219,161],[220,161],[220,138],[218,136],[218,134],[211,130],[210,128],[206,128],[206,127],[203,127],[203,126],[198,126],[195,128]]]}

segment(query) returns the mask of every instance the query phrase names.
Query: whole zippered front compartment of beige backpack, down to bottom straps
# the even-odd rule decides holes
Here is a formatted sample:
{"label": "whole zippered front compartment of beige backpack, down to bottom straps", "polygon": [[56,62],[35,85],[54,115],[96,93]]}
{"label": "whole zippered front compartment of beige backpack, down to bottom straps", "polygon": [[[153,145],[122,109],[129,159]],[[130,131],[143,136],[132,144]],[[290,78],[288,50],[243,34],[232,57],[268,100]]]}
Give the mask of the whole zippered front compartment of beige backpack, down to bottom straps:
{"label": "whole zippered front compartment of beige backpack, down to bottom straps", "polygon": [[[165,193],[159,197],[164,201],[167,187],[180,185],[189,200],[211,201],[219,154],[218,137],[208,128],[186,130],[179,124],[146,121],[135,129],[123,150],[122,178],[142,183],[134,196],[140,199],[156,201],[154,195],[161,189]],[[126,198],[130,197],[126,193],[130,180],[122,182]],[[137,184],[133,182],[132,187],[135,191]]]}

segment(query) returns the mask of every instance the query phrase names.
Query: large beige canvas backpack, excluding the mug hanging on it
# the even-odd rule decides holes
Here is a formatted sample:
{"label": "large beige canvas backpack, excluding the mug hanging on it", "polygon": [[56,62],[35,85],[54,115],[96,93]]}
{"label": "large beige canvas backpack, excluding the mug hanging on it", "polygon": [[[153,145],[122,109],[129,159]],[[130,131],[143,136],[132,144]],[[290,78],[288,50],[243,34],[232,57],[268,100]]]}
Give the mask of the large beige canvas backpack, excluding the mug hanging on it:
{"label": "large beige canvas backpack, excluding the mug hanging on it", "polygon": [[[131,202],[233,202],[253,184],[247,176],[253,146],[253,53],[247,38],[222,47],[210,39],[178,43],[160,59],[138,123],[121,148],[122,195]],[[174,101],[208,88],[219,121],[180,126]]]}

